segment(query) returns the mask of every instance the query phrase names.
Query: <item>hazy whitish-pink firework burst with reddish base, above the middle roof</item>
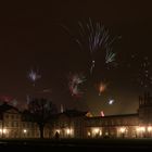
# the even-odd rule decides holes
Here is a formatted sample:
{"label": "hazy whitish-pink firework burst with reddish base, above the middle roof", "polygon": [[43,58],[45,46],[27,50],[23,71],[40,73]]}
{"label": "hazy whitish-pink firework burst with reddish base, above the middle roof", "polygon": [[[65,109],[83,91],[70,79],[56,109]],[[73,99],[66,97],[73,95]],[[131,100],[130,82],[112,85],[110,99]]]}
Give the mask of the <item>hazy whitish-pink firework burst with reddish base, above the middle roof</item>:
{"label": "hazy whitish-pink firework burst with reddish base, above the middle roof", "polygon": [[81,97],[80,85],[86,80],[83,74],[69,74],[68,87],[72,96]]}

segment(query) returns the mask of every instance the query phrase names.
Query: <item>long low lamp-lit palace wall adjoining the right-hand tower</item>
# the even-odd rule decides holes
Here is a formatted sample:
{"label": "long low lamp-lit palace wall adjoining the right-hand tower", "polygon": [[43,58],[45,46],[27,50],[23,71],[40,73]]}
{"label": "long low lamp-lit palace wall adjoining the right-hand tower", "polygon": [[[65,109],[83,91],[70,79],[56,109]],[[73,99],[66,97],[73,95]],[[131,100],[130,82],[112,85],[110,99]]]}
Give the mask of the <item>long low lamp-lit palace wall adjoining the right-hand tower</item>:
{"label": "long low lamp-lit palace wall adjoining the right-hand tower", "polygon": [[138,115],[86,118],[87,138],[136,138]]}

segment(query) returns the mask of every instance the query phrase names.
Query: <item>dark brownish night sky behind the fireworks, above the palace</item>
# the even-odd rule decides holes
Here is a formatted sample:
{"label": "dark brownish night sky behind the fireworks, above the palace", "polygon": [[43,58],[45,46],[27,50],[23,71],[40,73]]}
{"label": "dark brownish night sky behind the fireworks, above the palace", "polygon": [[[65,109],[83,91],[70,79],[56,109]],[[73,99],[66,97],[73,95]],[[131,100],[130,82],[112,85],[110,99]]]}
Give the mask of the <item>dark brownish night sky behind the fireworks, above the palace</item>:
{"label": "dark brownish night sky behind the fireworks, above the palace", "polygon": [[[80,2],[81,1],[81,2]],[[138,96],[152,89],[151,3],[132,0],[50,1],[49,3],[2,5],[0,9],[0,97],[26,103],[27,96],[46,97],[59,107],[105,115],[136,113]],[[90,58],[75,42],[78,22],[101,22],[112,37],[114,66],[105,69],[97,54],[90,76]],[[69,34],[63,28],[67,27]],[[28,78],[30,69],[41,77]],[[71,94],[69,73],[86,76],[83,96]],[[97,86],[106,81],[99,96]],[[109,100],[113,99],[113,104]]]}

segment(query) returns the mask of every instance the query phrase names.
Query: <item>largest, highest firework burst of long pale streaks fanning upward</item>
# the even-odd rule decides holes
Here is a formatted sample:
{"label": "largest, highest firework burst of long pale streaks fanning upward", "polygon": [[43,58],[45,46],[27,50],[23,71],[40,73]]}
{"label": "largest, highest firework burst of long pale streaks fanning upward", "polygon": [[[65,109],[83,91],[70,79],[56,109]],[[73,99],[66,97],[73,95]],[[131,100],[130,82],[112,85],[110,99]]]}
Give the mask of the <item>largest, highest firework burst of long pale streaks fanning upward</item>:
{"label": "largest, highest firework burst of long pale streaks fanning upward", "polygon": [[[79,40],[81,42],[81,46],[85,47],[85,43],[87,45],[88,50],[92,54],[94,51],[97,51],[101,46],[106,47],[110,45],[109,39],[109,30],[105,29],[104,25],[97,22],[93,23],[90,18],[87,24],[83,24],[81,22],[78,23],[79,25],[79,33],[81,36],[81,39]],[[85,39],[87,38],[87,39]]]}

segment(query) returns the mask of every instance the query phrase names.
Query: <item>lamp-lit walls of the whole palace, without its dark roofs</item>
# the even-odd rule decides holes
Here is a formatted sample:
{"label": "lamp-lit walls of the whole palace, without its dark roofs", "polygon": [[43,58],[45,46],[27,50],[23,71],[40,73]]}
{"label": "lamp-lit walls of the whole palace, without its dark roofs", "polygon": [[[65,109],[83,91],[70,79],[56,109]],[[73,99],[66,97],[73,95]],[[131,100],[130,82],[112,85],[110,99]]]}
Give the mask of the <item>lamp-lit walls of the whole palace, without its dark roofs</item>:
{"label": "lamp-lit walls of the whole palace, without its dark roofs", "polygon": [[[3,130],[3,131],[2,131]],[[45,138],[144,138],[152,137],[151,126],[141,126],[138,115],[105,117],[68,117],[61,115],[45,127]],[[9,111],[0,121],[0,138],[39,138],[36,123],[22,121],[20,113]]]}

